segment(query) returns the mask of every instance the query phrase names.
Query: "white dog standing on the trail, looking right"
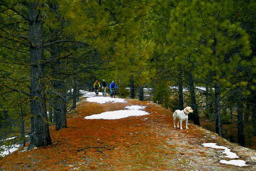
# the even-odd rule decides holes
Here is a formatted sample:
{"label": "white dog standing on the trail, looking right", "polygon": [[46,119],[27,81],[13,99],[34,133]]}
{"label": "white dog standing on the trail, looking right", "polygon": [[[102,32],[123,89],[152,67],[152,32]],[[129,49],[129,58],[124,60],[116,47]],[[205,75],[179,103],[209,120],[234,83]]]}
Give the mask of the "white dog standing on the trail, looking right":
{"label": "white dog standing on the trail, looking right", "polygon": [[186,120],[186,129],[188,129],[188,127],[187,127],[187,119],[188,119],[188,113],[190,113],[190,112],[192,113],[193,110],[189,106],[187,106],[182,111],[176,110],[174,112],[174,115],[173,115],[173,117],[174,117],[174,127],[176,127],[175,123],[176,123],[176,119],[178,119],[177,127],[179,127],[179,122],[180,122],[180,129],[183,130],[182,129],[182,121]]}

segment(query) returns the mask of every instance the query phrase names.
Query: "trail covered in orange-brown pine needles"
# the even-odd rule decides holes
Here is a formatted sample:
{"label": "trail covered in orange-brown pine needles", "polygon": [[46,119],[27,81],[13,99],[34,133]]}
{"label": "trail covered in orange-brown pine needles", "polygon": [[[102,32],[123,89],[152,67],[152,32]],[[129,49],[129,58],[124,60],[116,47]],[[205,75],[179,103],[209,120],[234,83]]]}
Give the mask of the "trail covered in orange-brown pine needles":
{"label": "trail covered in orange-brown pine needles", "polygon": [[[134,104],[147,106],[144,110],[150,115],[84,119]],[[172,113],[155,103],[127,100],[98,104],[83,100],[68,117],[67,129],[54,131],[50,127],[51,146],[15,152],[0,161],[0,170],[255,170],[255,159],[251,158],[256,156],[255,151],[194,124],[188,125],[189,130],[174,129]],[[230,148],[249,166],[221,164],[219,161],[226,159],[221,150],[203,147],[205,142]]]}

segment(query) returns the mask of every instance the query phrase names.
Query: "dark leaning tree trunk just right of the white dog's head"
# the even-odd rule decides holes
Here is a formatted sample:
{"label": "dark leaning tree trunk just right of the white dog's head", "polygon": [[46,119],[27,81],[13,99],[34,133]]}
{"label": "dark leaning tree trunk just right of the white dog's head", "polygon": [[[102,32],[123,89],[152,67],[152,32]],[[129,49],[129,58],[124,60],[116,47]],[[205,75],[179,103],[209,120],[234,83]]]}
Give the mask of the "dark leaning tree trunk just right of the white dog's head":
{"label": "dark leaning tree trunk just right of the white dog's head", "polygon": [[195,93],[195,87],[194,87],[194,77],[190,72],[188,73],[188,81],[189,81],[190,97],[191,97],[191,101],[192,101],[192,109],[194,110],[194,112],[193,112],[193,122],[196,125],[200,125],[199,115],[198,115],[198,106],[197,106],[197,100],[196,100],[196,93]]}

